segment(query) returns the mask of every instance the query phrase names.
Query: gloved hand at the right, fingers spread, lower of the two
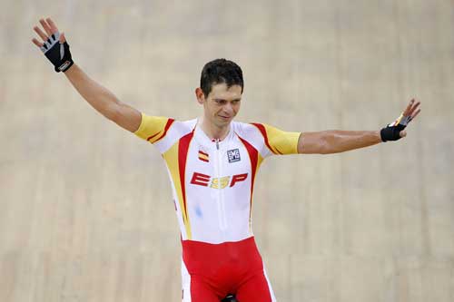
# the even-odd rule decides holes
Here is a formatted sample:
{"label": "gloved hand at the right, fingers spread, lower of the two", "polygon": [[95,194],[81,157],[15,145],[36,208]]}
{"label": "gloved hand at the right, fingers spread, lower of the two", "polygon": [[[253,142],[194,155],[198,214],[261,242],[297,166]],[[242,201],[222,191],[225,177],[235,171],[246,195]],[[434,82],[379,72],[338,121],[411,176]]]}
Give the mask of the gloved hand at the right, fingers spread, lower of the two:
{"label": "gloved hand at the right, fingers spread, lower of the two", "polygon": [[381,129],[381,141],[398,141],[402,137],[407,136],[407,132],[405,132],[404,129],[421,111],[419,105],[420,102],[416,102],[414,99],[411,100],[407,108],[394,122],[391,122],[388,126]]}

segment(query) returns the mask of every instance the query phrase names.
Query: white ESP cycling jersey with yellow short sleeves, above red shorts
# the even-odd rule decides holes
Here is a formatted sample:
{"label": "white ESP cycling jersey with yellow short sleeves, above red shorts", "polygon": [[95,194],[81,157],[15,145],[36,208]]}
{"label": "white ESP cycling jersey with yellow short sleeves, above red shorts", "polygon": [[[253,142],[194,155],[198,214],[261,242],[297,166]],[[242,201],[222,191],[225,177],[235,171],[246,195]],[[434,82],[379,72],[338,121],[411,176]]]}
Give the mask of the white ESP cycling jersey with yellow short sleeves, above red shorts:
{"label": "white ESP cycling jersey with yellow short sleeves, above red shorts", "polygon": [[135,132],[163,155],[183,240],[212,244],[252,234],[252,193],[263,159],[297,153],[300,132],[262,123],[232,122],[222,141],[212,141],[197,119],[178,122],[142,113]]}

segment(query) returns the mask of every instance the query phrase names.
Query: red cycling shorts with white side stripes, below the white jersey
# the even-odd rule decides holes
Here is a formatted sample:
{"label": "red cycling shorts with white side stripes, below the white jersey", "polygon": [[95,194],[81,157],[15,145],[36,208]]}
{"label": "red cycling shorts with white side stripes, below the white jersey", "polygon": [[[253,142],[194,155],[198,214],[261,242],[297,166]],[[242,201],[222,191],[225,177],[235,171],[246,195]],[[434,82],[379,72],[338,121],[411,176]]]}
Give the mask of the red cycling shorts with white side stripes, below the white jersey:
{"label": "red cycling shorts with white side stripes, below the white jersey", "polygon": [[183,240],[183,302],[276,301],[253,237],[211,244]]}

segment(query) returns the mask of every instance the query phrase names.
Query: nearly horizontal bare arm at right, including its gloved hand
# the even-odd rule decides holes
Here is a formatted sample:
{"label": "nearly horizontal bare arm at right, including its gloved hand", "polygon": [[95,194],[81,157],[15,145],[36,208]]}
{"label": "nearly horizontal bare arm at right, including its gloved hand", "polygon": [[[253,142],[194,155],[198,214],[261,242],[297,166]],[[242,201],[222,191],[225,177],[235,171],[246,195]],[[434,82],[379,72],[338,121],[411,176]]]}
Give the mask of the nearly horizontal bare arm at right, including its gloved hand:
{"label": "nearly horizontal bare arm at right, including its gloved hand", "polygon": [[380,131],[302,132],[298,140],[298,153],[331,154],[369,147],[383,141],[397,141],[405,137],[404,131],[420,112],[420,102],[411,100],[400,117]]}

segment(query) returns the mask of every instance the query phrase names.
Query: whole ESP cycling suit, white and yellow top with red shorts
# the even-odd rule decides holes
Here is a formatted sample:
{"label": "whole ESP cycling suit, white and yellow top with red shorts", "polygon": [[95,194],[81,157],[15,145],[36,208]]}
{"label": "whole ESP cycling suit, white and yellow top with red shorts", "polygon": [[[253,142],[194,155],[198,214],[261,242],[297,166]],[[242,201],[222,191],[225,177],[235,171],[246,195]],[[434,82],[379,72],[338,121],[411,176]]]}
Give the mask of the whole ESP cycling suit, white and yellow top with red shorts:
{"label": "whole ESP cycling suit, white and yellow top with red shorts", "polygon": [[181,229],[183,302],[275,301],[252,234],[252,192],[263,159],[297,153],[300,132],[231,122],[212,141],[197,119],[178,122],[142,113],[135,132],[163,155]]}

